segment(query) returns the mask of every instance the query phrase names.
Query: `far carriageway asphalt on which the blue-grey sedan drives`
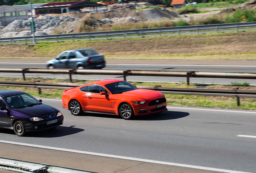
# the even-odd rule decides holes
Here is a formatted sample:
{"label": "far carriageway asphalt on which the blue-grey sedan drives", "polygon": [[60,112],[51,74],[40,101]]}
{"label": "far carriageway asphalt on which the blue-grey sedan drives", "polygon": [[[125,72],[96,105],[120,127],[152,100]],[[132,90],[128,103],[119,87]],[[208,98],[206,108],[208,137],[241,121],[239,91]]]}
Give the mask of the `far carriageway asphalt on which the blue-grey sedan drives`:
{"label": "far carriageway asphalt on which the blue-grey sedan drives", "polygon": [[[46,59],[0,59],[0,68],[45,68]],[[256,72],[256,61],[179,61],[179,60],[107,60],[106,70],[168,70],[168,71],[202,71],[202,72]],[[22,77],[21,73],[0,73],[0,76]],[[62,74],[26,74],[27,77],[69,78]],[[72,75],[73,79],[104,80],[123,79],[114,75]],[[186,82],[186,78],[127,76],[128,81],[149,82]],[[250,82],[255,80],[225,78],[190,78],[192,83],[230,84],[231,82]]]}

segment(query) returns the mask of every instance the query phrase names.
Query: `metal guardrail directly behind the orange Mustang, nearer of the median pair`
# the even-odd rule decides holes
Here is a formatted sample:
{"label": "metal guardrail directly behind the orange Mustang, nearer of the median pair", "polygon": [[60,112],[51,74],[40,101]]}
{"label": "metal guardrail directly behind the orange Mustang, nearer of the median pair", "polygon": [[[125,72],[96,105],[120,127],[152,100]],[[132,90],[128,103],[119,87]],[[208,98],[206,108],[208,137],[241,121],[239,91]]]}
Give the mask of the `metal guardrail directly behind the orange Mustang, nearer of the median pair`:
{"label": "metal guardrail directly behind the orange Mustang, nearer of the median pair", "polygon": [[[72,84],[72,83],[0,81],[0,86],[38,88],[39,94],[41,94],[41,88],[44,88],[44,89],[69,89],[72,87],[80,87],[82,85],[83,84]],[[256,91],[254,91],[254,90],[192,89],[192,88],[148,87],[148,86],[137,86],[137,88],[160,91],[163,94],[236,97],[237,105],[240,105],[239,97],[256,98]]]}

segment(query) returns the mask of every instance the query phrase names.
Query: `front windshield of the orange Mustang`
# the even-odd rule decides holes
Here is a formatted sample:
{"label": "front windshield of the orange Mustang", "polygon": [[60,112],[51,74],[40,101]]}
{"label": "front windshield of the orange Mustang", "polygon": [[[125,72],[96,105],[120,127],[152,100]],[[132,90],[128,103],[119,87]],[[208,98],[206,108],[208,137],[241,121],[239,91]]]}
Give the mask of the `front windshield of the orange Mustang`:
{"label": "front windshield of the orange Mustang", "polygon": [[111,84],[106,84],[105,87],[112,93],[112,94],[120,94],[126,91],[132,91],[136,90],[137,88],[134,87],[132,84],[120,81],[120,82],[114,82]]}

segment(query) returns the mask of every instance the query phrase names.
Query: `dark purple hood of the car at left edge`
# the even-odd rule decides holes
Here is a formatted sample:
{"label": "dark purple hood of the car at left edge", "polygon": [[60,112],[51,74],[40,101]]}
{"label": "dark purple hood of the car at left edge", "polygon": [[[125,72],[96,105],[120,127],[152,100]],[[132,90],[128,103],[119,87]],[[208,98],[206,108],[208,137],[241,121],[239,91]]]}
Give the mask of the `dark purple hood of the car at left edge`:
{"label": "dark purple hood of the car at left edge", "polygon": [[41,117],[44,115],[50,115],[56,113],[56,109],[45,104],[35,105],[33,107],[25,107],[22,109],[16,109],[15,111],[29,115],[31,117]]}

